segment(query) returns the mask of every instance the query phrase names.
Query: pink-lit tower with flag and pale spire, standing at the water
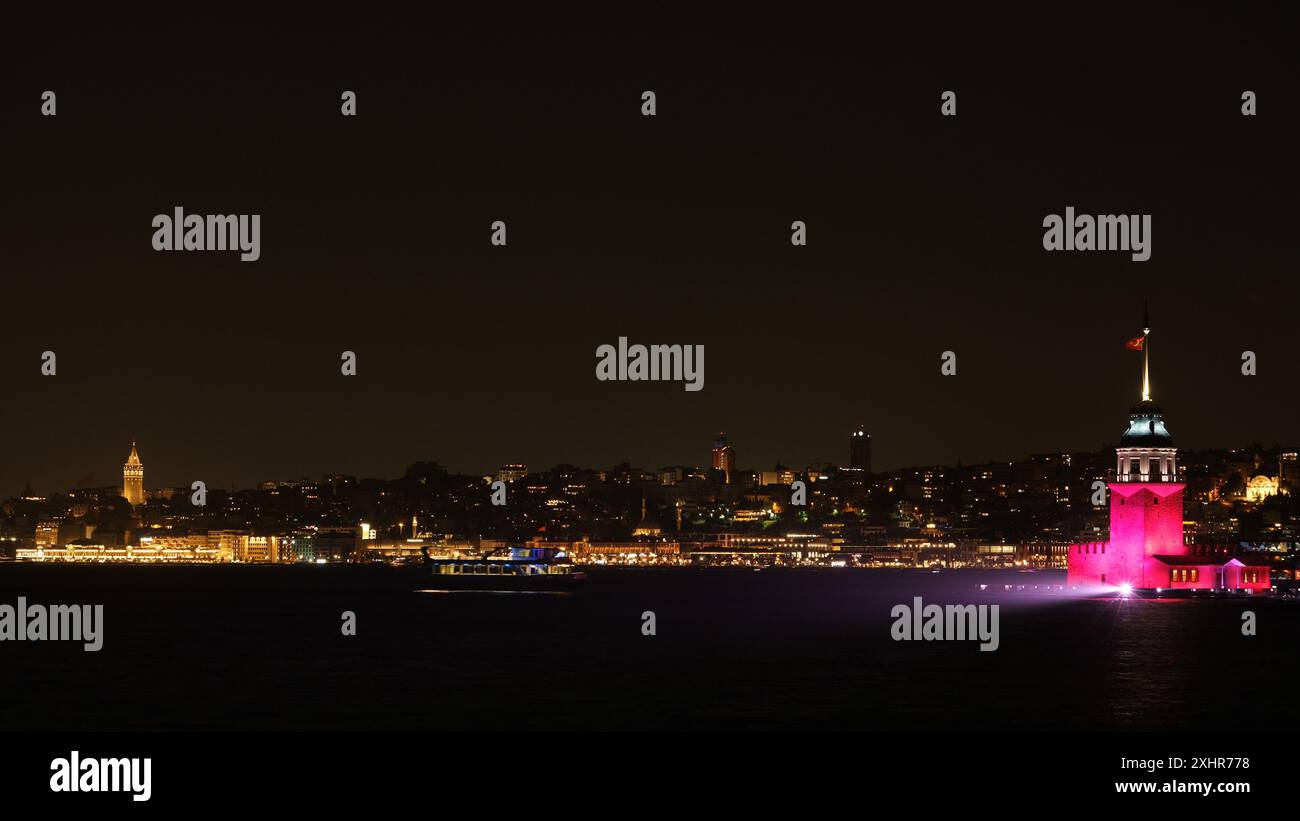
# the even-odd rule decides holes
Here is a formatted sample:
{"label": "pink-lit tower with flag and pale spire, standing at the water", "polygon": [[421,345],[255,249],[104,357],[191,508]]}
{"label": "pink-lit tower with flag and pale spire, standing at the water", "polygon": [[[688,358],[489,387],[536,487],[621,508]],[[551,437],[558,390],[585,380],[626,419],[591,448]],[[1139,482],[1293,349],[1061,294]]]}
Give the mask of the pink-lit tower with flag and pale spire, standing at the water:
{"label": "pink-lit tower with flag and pale spire, standing at the water", "polygon": [[1071,587],[1131,590],[1268,590],[1269,566],[1227,546],[1183,542],[1183,488],[1174,436],[1150,399],[1150,325],[1130,343],[1143,352],[1141,401],[1115,448],[1110,539],[1071,544]]}

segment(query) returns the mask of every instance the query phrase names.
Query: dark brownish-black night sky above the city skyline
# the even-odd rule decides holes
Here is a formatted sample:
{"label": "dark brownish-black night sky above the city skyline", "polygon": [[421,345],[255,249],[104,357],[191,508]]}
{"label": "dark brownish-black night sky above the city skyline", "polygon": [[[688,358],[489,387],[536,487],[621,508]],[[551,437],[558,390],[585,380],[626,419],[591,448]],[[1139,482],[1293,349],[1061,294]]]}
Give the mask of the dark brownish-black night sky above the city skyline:
{"label": "dark brownish-black night sky above the city skyline", "polygon": [[[797,9],[16,23],[0,495],[117,482],[133,439],[150,487],[705,464],[719,430],[745,468],[842,462],[859,422],[878,469],[1098,448],[1144,297],[1180,447],[1300,442],[1280,21]],[[176,205],[260,213],[261,260],[155,252]],[[1150,213],[1152,259],[1044,252],[1067,205]],[[703,344],[705,390],[597,382],[620,335]]]}

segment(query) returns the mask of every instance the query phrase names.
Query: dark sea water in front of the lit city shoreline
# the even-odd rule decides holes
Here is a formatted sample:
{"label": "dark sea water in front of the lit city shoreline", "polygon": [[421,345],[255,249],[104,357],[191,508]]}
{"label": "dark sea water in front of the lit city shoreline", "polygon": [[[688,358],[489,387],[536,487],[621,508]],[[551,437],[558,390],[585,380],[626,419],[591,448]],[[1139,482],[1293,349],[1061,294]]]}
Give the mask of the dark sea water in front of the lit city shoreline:
{"label": "dark sea water in front of the lit city shoreline", "polygon": [[[4,564],[0,604],[104,604],[105,638],[98,653],[0,643],[0,725],[1260,730],[1300,718],[1300,604],[1001,590],[1062,581],[597,568],[577,594],[432,594],[378,566]],[[892,640],[890,608],[916,595],[1000,604],[1000,648]],[[1247,609],[1258,635],[1242,635]],[[356,637],[341,634],[343,611]]]}

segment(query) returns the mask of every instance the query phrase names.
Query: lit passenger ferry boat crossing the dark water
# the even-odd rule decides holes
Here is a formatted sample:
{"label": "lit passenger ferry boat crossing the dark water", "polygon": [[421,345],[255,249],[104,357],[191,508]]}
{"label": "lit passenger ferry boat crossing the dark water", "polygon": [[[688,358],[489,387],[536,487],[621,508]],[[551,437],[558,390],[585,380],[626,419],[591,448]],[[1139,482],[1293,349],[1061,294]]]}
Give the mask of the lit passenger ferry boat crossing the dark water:
{"label": "lit passenger ferry boat crossing the dark water", "polygon": [[555,592],[576,590],[586,581],[554,547],[510,547],[468,559],[425,556],[424,564],[430,590]]}

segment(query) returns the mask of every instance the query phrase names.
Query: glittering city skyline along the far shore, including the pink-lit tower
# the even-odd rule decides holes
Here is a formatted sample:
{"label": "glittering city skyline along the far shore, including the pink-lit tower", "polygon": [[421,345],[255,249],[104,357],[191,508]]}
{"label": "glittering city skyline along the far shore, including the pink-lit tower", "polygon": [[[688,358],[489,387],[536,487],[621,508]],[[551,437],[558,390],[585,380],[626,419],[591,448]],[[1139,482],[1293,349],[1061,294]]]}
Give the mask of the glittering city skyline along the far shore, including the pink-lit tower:
{"label": "glittering city skyline along the far shore, including the pink-lit tower", "polygon": [[[1278,562],[1290,561],[1300,535],[1300,451],[1187,449],[1183,464],[1195,468],[1180,470],[1154,400],[1150,340],[1144,309],[1141,335],[1122,343],[1141,353],[1131,360],[1140,387],[1113,469],[1097,452],[1050,451],[875,472],[872,436],[857,425],[841,440],[846,459],[823,465],[749,468],[719,431],[705,468],[529,469],[514,460],[456,474],[428,460],[408,464],[400,478],[334,473],[225,494],[202,477],[188,487],[150,488],[131,442],[117,487],[6,500],[0,540],[8,544],[0,548],[29,561],[404,564],[437,552],[454,564],[523,542],[595,564],[1069,562],[1072,586],[1118,585],[1124,595],[1266,588],[1274,568],[1294,572]],[[1242,552],[1248,543],[1251,552]]]}

